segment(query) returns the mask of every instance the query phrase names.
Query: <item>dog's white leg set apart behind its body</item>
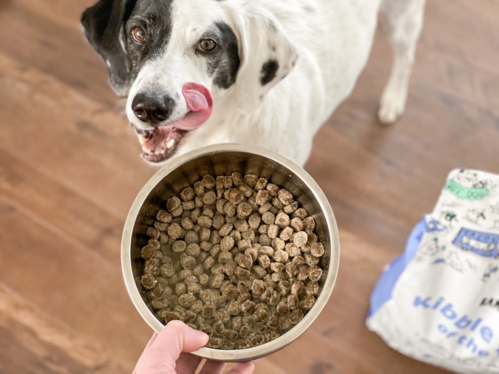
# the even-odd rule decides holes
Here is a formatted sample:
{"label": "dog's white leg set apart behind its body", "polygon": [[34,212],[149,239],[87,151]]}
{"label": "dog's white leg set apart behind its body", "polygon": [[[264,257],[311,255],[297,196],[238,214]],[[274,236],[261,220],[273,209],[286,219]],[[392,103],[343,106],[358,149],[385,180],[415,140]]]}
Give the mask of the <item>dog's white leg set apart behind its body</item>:
{"label": "dog's white leg set apart behind its body", "polygon": [[394,123],[404,112],[424,7],[425,0],[384,0],[381,4],[383,26],[393,48],[392,72],[378,110],[381,124]]}

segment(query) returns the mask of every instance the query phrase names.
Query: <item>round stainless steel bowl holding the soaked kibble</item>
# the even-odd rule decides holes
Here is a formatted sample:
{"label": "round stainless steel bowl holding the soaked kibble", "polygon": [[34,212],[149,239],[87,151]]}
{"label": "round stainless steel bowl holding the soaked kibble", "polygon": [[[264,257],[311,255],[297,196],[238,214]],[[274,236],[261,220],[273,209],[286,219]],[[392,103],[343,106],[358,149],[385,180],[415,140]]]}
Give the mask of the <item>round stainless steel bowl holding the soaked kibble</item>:
{"label": "round stainless steel bowl holding the soaked kibble", "polygon": [[147,243],[147,227],[155,221],[156,213],[165,207],[166,200],[178,196],[206,174],[229,175],[234,172],[252,173],[289,190],[316,222],[316,233],[324,244],[321,259],[324,269],[320,291],[313,307],[305,317],[279,338],[257,347],[242,350],[201,348],[195,355],[225,362],[254,360],[275,352],[303,333],[326,304],[336,280],[339,264],[338,229],[333,212],[324,193],[313,179],[290,160],[257,147],[219,144],[192,151],[170,160],[137,195],[128,213],[121,242],[121,262],[127,291],[135,308],[153,330],[163,328],[140,283],[143,262],[141,248]]}

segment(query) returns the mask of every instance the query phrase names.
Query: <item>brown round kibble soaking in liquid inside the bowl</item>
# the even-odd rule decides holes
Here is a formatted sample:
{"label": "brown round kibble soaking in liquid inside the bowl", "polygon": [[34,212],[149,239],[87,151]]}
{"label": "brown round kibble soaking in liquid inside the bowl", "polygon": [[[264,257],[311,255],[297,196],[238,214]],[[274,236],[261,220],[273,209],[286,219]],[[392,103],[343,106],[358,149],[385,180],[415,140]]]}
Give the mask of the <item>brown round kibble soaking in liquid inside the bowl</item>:
{"label": "brown round kibble soaking in liquid inside the bowl", "polygon": [[158,318],[245,349],[301,321],[315,304],[324,245],[293,194],[253,174],[205,175],[167,199],[146,229],[141,283]]}

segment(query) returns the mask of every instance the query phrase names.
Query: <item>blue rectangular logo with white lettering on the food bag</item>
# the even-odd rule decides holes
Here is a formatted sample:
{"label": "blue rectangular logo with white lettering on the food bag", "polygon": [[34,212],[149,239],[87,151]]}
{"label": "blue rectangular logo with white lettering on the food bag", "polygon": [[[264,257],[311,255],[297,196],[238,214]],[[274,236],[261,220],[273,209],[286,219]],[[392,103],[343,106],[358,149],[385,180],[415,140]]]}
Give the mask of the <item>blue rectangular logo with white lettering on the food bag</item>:
{"label": "blue rectangular logo with white lettering on the food bag", "polygon": [[480,232],[463,227],[452,243],[482,257],[499,257],[499,235],[490,232]]}

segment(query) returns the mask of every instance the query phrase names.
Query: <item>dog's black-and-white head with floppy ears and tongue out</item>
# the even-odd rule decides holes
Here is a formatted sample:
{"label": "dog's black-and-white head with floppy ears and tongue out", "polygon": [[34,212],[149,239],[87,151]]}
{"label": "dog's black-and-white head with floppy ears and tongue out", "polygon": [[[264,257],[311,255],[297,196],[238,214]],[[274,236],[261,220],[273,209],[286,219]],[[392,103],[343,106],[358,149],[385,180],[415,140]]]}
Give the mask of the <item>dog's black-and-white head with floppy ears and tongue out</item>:
{"label": "dog's black-and-white head with floppy ears and tongue out", "polygon": [[128,119],[151,162],[170,157],[226,95],[252,113],[297,57],[275,17],[251,1],[100,0],[81,22],[112,88],[128,94]]}

